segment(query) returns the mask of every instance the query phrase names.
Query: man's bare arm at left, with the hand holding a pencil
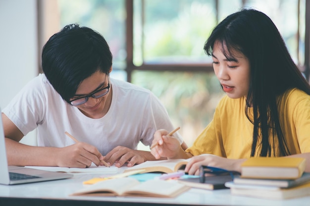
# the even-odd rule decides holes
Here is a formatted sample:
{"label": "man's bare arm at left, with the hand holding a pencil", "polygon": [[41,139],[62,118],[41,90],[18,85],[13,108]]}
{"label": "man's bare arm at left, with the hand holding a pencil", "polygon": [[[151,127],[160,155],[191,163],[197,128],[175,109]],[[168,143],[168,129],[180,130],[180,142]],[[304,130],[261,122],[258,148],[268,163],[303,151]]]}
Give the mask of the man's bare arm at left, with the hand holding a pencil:
{"label": "man's bare arm at left, with the hand holding a pencil", "polygon": [[96,147],[77,143],[68,147],[36,147],[19,143],[23,138],[18,127],[2,113],[8,165],[87,167],[101,165],[103,156]]}

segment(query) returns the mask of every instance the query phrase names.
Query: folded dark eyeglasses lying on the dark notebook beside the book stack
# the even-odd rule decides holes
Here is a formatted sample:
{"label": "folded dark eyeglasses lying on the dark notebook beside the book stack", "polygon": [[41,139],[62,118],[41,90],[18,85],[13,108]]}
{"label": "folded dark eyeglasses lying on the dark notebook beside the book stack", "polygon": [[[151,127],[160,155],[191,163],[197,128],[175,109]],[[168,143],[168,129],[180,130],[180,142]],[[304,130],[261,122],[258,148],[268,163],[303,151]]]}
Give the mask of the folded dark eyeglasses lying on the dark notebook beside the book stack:
{"label": "folded dark eyeglasses lying on the dark notebook beside the book stack", "polygon": [[241,175],[241,173],[237,171],[231,171],[231,170],[226,170],[226,169],[222,169],[218,167],[201,165],[199,167],[199,181],[201,183],[206,182],[206,174],[217,175],[217,176],[229,174],[232,179],[234,179],[234,175]]}

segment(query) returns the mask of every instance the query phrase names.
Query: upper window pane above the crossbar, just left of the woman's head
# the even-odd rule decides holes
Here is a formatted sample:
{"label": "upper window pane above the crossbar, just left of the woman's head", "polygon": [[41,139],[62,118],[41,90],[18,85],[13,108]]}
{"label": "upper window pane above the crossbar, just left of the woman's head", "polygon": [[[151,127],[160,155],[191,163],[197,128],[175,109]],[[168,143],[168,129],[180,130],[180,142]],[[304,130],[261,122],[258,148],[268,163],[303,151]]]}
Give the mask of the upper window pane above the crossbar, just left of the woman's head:
{"label": "upper window pane above the crossbar, just left of the woman's head", "polygon": [[134,64],[210,62],[214,0],[134,0]]}

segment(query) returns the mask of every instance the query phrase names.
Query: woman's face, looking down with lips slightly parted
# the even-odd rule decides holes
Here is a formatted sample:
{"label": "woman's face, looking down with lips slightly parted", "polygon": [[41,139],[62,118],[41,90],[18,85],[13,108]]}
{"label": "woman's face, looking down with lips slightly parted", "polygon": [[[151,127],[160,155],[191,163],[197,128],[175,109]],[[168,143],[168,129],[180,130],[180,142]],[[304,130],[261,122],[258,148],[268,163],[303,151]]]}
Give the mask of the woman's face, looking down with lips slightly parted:
{"label": "woman's face, looking down with lips slightly parted", "polygon": [[227,59],[222,48],[223,46],[215,41],[212,60],[217,79],[230,98],[247,97],[250,87],[250,62],[248,58],[238,51],[233,51],[233,59]]}

